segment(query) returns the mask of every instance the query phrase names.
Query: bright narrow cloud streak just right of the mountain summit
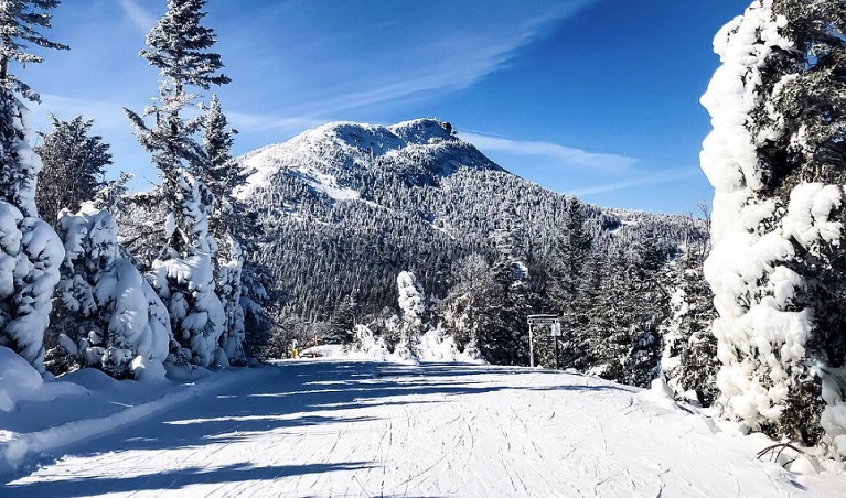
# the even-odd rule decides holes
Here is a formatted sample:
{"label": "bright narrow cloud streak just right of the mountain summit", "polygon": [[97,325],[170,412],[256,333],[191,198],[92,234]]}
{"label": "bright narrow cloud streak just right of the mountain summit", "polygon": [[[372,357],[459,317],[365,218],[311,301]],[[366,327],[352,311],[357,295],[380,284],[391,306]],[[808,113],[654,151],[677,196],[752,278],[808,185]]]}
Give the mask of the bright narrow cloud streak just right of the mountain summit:
{"label": "bright narrow cloud streak just right of the mountain summit", "polygon": [[638,160],[624,155],[588,152],[582,149],[551,142],[511,140],[488,134],[462,132],[461,138],[483,151],[500,151],[516,155],[540,155],[554,159],[565,165],[599,170],[606,173],[621,173]]}

